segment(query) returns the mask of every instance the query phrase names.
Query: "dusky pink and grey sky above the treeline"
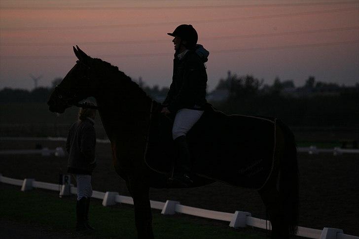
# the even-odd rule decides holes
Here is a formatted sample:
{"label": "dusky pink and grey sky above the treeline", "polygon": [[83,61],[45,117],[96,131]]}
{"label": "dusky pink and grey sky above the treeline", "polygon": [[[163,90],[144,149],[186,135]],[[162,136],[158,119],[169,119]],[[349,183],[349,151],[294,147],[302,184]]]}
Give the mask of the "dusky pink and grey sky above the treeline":
{"label": "dusky pink and grey sky above the treeline", "polygon": [[192,24],[210,51],[208,89],[227,71],[272,84],[359,83],[359,0],[0,0],[0,89],[50,86],[72,46],[148,86],[169,86],[173,32]]}

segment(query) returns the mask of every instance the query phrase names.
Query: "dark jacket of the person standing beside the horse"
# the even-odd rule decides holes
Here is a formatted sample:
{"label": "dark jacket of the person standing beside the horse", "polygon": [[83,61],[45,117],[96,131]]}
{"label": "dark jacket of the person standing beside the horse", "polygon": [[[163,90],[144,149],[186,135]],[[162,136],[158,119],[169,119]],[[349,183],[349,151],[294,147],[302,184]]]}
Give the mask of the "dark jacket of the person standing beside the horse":
{"label": "dark jacket of the person standing beside the horse", "polygon": [[90,119],[75,122],[66,141],[69,153],[68,172],[91,175],[95,162],[96,134]]}

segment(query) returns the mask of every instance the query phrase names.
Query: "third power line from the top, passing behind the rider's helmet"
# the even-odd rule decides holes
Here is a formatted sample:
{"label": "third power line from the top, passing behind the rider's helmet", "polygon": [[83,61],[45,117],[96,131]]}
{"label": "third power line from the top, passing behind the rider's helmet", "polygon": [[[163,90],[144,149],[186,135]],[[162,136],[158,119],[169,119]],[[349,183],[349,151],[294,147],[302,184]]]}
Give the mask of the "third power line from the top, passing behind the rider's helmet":
{"label": "third power line from the top, passing behind the rider's helmet", "polygon": [[[342,27],[342,28],[329,28],[329,29],[317,29],[317,30],[301,30],[281,33],[263,33],[263,34],[243,34],[243,35],[227,35],[227,36],[212,36],[201,37],[201,40],[222,40],[222,39],[236,39],[236,38],[259,38],[259,37],[271,37],[271,36],[285,36],[296,34],[316,34],[316,33],[332,33],[342,32],[348,30],[359,30],[359,26],[355,27]],[[84,41],[75,42],[77,45],[103,45],[103,44],[146,44],[146,43],[162,43],[169,40],[122,40],[122,41]],[[2,46],[69,46],[74,42],[1,42]]]}

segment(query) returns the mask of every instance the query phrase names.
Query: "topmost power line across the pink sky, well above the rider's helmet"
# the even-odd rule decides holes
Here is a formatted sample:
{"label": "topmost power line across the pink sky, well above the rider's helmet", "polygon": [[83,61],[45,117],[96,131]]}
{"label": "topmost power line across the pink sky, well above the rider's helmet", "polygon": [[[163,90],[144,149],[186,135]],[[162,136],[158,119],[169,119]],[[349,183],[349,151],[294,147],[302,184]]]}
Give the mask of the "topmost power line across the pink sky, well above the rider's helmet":
{"label": "topmost power line across the pink sky, well above the rider's helmet", "polygon": [[340,2],[306,2],[306,3],[272,3],[272,4],[242,4],[242,5],[196,5],[196,6],[134,6],[134,7],[19,7],[5,6],[0,10],[161,10],[161,9],[218,9],[218,8],[254,8],[254,7],[288,7],[288,6],[318,6],[355,4],[358,1]]}

